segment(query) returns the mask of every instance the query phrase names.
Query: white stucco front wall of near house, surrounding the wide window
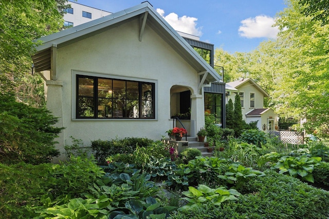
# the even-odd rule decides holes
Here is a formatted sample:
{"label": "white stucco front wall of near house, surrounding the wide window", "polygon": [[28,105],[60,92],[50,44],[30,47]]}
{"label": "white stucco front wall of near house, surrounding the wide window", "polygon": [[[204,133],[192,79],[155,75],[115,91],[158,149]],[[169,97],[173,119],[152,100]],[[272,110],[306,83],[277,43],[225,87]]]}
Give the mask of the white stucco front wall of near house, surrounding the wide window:
{"label": "white stucco front wall of near house, surrounding the wide window", "polygon": [[[47,106],[57,112],[62,103],[65,127],[63,139],[70,145],[70,136],[81,139],[86,146],[93,140],[119,137],[149,137],[159,140],[172,127],[170,120],[170,88],[181,85],[197,89],[197,72],[163,41],[148,25],[142,41],[139,40],[138,20],[106,30],[82,41],[60,47],[57,50],[57,79],[63,82],[62,100],[50,99]],[[124,77],[135,81],[155,83],[155,120],[77,120],[75,117],[75,74],[102,77]],[[199,97],[198,97],[199,98]],[[203,103],[198,101],[197,103]],[[196,130],[204,125],[203,104],[198,104],[200,118]],[[196,110],[196,109],[192,109]],[[54,113],[60,115],[61,113]],[[64,152],[63,144],[58,148]],[[63,158],[63,157],[61,157]]]}

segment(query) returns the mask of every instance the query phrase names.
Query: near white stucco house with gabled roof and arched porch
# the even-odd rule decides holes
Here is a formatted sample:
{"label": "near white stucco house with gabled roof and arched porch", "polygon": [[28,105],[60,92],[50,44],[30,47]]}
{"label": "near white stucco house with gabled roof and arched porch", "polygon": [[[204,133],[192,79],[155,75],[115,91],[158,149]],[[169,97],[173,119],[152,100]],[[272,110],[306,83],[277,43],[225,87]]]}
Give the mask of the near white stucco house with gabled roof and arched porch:
{"label": "near white stucco house with gabled roof and arched porch", "polygon": [[[158,140],[189,98],[188,135],[205,125],[204,87],[222,78],[148,2],[44,36],[32,56],[47,108],[85,145],[115,137]],[[181,95],[184,92],[190,95]]]}

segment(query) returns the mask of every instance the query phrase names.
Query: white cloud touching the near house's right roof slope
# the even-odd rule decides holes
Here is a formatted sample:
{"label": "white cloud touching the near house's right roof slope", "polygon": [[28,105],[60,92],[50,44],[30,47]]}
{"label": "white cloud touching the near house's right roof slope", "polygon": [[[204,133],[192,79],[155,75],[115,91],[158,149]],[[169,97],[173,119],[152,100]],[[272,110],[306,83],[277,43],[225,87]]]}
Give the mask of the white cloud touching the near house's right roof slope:
{"label": "white cloud touching the near house's right roof slope", "polygon": [[170,13],[167,16],[164,16],[164,10],[157,8],[156,11],[163,18],[165,18],[165,20],[174,28],[174,30],[195,36],[202,36],[202,27],[196,27],[196,17],[189,17],[186,15],[178,17],[178,15],[175,13]]}

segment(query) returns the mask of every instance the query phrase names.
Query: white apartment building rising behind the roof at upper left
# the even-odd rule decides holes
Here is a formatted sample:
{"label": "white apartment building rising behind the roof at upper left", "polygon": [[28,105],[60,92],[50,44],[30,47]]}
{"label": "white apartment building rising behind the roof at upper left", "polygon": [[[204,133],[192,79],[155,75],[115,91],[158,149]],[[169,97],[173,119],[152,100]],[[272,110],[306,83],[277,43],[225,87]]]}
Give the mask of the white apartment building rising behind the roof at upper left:
{"label": "white apartment building rising behind the roof at upper left", "polygon": [[75,2],[68,1],[67,4],[71,5],[71,7],[68,8],[66,10],[66,14],[64,14],[65,27],[70,27],[70,26],[75,27],[80,24],[84,24],[89,21],[93,21],[103,16],[112,14],[111,12],[108,11],[81,5]]}

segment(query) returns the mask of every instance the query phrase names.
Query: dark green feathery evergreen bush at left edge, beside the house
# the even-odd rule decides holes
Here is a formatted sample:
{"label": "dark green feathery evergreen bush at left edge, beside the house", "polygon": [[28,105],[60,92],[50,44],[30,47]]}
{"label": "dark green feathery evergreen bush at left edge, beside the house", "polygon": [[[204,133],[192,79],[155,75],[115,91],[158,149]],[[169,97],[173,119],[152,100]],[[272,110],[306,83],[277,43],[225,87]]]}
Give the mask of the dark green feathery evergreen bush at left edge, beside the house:
{"label": "dark green feathery evergreen bush at left edge, beside the house", "polygon": [[14,95],[0,95],[0,162],[38,164],[59,154],[54,138],[62,128],[44,108],[17,103]]}

